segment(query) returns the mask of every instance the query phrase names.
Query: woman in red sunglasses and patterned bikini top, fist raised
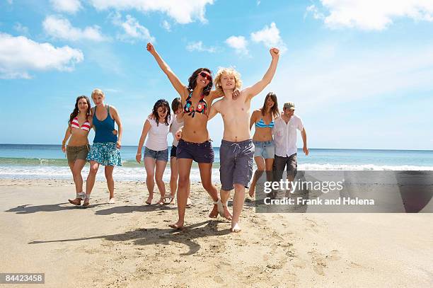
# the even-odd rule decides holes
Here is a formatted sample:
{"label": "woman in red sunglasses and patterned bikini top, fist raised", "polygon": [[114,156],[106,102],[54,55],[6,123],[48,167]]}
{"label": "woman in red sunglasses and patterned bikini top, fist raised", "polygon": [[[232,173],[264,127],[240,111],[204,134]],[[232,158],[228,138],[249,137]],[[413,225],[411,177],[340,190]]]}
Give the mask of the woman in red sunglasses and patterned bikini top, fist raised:
{"label": "woman in red sunglasses and patterned bikini top, fist raised", "polygon": [[185,219],[185,208],[187,205],[187,186],[189,185],[192,161],[198,163],[200,178],[203,188],[209,193],[214,201],[214,208],[209,217],[216,218],[218,209],[222,209],[218,191],[212,184],[212,163],[214,162],[214,150],[207,131],[207,116],[212,100],[217,98],[217,93],[211,93],[212,75],[207,68],[196,69],[188,79],[185,86],[173,73],[168,64],[163,61],[156,52],[154,45],[147,44],[147,51],[154,56],[162,71],[167,75],[171,84],[178,91],[183,104],[184,126],[182,138],[176,149],[176,158],[179,171],[178,182],[178,214],[179,218],[174,224],[174,229],[182,229]]}

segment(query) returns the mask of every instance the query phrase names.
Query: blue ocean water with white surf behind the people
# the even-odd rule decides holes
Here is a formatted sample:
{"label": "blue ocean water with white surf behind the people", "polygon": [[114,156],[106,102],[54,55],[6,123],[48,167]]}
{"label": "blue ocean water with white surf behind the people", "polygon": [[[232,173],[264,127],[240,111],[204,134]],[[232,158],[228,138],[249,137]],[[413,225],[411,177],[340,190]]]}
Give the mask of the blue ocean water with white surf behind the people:
{"label": "blue ocean water with white surf behind the people", "polygon": [[[66,155],[60,145],[0,144],[0,178],[72,179]],[[214,147],[215,162],[212,179],[219,182],[219,147]],[[143,162],[135,161],[137,146],[122,146],[122,167],[116,167],[116,180],[145,180]],[[164,180],[170,179],[170,163]],[[419,150],[363,150],[363,149],[310,149],[308,156],[298,150],[298,169],[323,170],[433,170],[433,151]],[[86,178],[88,165],[83,169]],[[97,176],[104,179],[103,167]],[[191,169],[191,180],[200,181],[196,163]]]}

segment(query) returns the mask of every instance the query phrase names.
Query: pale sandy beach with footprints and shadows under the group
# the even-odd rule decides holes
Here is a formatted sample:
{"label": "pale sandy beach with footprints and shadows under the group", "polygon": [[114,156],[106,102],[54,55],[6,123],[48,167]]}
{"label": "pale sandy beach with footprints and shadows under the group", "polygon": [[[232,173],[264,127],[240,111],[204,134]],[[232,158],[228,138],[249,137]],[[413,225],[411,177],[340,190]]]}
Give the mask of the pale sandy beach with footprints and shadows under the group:
{"label": "pale sandy beach with footprints and shadows under the group", "polygon": [[[432,214],[256,214],[209,219],[192,184],[186,226],[175,206],[143,205],[142,182],[117,182],[108,205],[74,207],[71,180],[0,180],[1,272],[43,272],[45,287],[427,287]],[[156,200],[157,195],[155,195]],[[229,202],[230,204],[230,202]]]}

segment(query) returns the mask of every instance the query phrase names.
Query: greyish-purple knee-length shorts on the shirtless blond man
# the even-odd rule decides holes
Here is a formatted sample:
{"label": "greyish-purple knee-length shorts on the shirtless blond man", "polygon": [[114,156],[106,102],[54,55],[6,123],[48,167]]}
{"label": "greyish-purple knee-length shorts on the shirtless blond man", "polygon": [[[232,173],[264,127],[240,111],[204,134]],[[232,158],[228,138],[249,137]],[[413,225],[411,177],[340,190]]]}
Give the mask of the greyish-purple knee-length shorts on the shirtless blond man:
{"label": "greyish-purple knee-length shorts on the shirtless blond man", "polygon": [[222,190],[230,191],[234,184],[250,186],[253,176],[254,145],[251,139],[241,142],[221,141],[219,147],[219,177]]}

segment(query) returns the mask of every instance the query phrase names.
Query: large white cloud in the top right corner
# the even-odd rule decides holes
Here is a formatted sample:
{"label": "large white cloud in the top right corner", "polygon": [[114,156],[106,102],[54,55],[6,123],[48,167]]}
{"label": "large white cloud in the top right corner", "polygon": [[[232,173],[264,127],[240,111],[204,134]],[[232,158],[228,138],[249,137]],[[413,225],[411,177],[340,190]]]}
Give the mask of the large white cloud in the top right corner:
{"label": "large white cloud in the top right corner", "polygon": [[383,30],[393,18],[408,17],[416,21],[433,21],[431,0],[321,0],[328,15],[319,13],[317,6],[308,6],[313,15],[323,15],[331,28],[350,27],[362,30]]}

